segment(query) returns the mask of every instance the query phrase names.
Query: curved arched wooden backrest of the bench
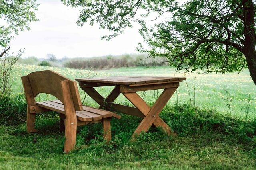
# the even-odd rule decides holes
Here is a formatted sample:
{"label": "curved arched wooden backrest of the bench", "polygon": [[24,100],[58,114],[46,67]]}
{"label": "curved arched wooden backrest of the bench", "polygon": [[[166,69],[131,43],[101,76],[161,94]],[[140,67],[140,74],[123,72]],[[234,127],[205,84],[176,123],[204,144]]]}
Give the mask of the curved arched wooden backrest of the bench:
{"label": "curved arched wooden backrest of the bench", "polygon": [[60,82],[65,80],[68,80],[68,86],[75,109],[82,110],[82,103],[78,94],[76,82],[51,70],[36,71],[22,77],[22,84],[26,93],[25,96],[27,102],[28,98],[34,98],[39,93],[51,94],[63,102],[63,96],[65,94],[62,92]]}

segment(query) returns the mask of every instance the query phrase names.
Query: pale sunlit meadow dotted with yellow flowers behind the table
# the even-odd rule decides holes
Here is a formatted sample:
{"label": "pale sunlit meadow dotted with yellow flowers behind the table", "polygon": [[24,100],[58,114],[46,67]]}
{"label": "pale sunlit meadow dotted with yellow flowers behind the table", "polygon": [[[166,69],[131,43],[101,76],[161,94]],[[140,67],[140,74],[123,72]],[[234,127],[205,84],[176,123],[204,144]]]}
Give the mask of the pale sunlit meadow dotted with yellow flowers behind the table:
{"label": "pale sunlit meadow dotted with yellow flowers behind the table", "polygon": [[[194,106],[204,109],[216,109],[220,113],[229,113],[238,117],[254,118],[256,113],[256,86],[250,78],[248,70],[237,74],[181,74],[170,67],[134,67],[113,68],[110,70],[90,71],[70,68],[40,67],[35,65],[17,65],[14,72],[14,94],[23,93],[20,76],[42,69],[50,69],[74,80],[80,77],[93,76],[182,76],[186,81],[180,83],[177,93],[171,98],[171,104],[192,103]],[[100,94],[108,94],[112,87],[98,88]],[[83,95],[82,91],[80,94]],[[154,100],[154,96],[160,92],[146,92],[146,101]],[[103,95],[104,96],[104,95]],[[83,96],[81,96],[83,98]],[[124,102],[126,98],[119,96],[116,102]],[[230,101],[230,107],[227,106]],[[89,104],[96,105],[88,99]],[[250,105],[249,110],[246,106]],[[230,111],[229,111],[230,109]],[[248,110],[248,111],[247,111]]]}

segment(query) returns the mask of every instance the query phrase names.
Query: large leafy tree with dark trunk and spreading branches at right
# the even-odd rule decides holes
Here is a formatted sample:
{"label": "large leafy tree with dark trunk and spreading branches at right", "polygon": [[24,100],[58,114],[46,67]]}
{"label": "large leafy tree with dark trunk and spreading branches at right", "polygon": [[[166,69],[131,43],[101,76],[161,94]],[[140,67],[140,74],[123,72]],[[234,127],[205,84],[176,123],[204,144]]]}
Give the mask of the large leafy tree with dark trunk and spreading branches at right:
{"label": "large leafy tree with dark trunk and spreading branches at right", "polygon": [[[62,0],[80,7],[79,26],[98,23],[122,33],[134,22],[146,47],[138,51],[163,56],[178,70],[235,72],[248,68],[256,84],[254,0]],[[149,47],[149,48],[148,48]]]}

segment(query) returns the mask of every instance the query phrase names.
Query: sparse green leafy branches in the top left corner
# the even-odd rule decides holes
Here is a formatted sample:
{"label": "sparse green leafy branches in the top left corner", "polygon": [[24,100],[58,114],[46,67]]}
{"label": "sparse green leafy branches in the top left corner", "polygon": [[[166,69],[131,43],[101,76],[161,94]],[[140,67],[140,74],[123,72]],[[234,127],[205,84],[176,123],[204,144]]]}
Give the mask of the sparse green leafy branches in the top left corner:
{"label": "sparse green leafy branches in the top left corner", "polygon": [[36,0],[0,0],[0,47],[6,47],[18,31],[30,29],[38,5]]}

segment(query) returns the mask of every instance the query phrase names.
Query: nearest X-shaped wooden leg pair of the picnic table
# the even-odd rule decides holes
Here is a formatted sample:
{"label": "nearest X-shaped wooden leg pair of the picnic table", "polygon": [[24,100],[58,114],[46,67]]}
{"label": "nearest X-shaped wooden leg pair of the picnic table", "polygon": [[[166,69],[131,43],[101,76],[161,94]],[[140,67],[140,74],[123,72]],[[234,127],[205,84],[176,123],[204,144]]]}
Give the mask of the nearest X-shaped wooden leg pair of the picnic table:
{"label": "nearest X-shaped wooden leg pair of the picnic table", "polygon": [[144,119],[141,121],[140,125],[134,131],[132,137],[138,135],[141,131],[148,131],[148,128],[154,123],[156,127],[161,126],[164,130],[166,130],[167,134],[176,136],[176,134],[172,131],[172,129],[164,123],[164,121],[158,117],[159,113],[162,111],[164,106],[167,104],[168,100],[171,98],[172,94],[174,94],[177,88],[166,88],[156,100],[155,104],[150,108],[142,98],[136,93],[123,93],[132,104],[137,107],[144,115]]}

